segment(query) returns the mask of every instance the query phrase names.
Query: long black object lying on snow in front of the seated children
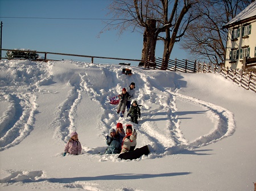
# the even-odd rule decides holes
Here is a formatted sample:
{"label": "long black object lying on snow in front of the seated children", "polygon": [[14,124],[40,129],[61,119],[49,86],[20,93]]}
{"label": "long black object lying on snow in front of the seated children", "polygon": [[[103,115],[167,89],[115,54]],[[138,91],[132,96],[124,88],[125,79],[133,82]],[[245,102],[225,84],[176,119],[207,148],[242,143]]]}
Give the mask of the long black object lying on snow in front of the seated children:
{"label": "long black object lying on snow in front of the seated children", "polygon": [[128,159],[133,160],[133,159],[140,158],[142,155],[148,155],[149,153],[150,153],[150,150],[148,148],[148,145],[146,145],[141,148],[136,148],[134,151],[119,154],[118,158],[125,159],[125,160],[128,160]]}

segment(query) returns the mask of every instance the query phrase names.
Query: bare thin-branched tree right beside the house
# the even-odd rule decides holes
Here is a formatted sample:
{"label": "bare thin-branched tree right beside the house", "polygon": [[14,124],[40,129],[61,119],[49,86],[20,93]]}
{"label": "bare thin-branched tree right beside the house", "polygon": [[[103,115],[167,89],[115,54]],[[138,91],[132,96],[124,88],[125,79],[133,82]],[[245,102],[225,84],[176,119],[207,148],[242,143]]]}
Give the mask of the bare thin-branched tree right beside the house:
{"label": "bare thin-branched tree right beside the house", "polygon": [[222,26],[250,4],[247,0],[204,0],[192,10],[200,18],[193,20],[184,35],[181,47],[196,59],[207,59],[220,65],[225,61],[228,30]]}

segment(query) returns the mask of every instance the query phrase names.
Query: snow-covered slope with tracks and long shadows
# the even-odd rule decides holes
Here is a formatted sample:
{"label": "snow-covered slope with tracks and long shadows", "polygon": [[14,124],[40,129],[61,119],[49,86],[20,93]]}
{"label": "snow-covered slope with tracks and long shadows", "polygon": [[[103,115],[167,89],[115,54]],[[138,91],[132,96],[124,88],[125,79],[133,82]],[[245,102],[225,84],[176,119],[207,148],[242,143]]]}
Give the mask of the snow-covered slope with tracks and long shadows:
{"label": "snow-covered slope with tracks and long shadows", "polygon": [[[254,190],[256,94],[220,74],[92,63],[0,61],[0,190]],[[99,155],[135,82],[137,160]],[[125,114],[126,116],[126,114]],[[63,156],[76,130],[82,155]]]}

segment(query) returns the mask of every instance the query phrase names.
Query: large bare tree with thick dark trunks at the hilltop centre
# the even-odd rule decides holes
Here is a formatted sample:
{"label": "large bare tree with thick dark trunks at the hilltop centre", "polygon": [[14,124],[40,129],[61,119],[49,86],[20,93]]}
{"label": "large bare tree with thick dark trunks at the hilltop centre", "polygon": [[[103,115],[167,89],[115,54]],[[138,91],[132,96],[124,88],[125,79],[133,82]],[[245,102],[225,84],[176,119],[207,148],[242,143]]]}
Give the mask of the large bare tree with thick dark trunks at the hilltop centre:
{"label": "large bare tree with thick dark trunks at the hilltop centre", "polygon": [[108,7],[113,19],[106,29],[119,28],[121,33],[127,28],[143,31],[142,60],[145,63],[147,60],[154,61],[156,41],[163,40],[165,66],[174,44],[184,35],[189,23],[198,16],[192,15],[191,11],[185,17],[196,3],[197,0],[113,0]]}

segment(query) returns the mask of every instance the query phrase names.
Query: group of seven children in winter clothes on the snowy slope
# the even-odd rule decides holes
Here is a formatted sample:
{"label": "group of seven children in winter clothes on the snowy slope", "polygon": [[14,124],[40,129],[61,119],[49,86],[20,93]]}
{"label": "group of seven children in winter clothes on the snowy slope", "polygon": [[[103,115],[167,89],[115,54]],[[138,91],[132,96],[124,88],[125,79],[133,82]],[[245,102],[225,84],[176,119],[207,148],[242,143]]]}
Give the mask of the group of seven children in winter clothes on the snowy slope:
{"label": "group of seven children in winter clothes on the snowy slope", "polygon": [[[141,109],[134,100],[131,104],[131,99],[135,96],[135,83],[131,82],[130,86],[122,89],[122,93],[118,95],[119,103],[117,105],[117,113],[121,111],[121,116],[125,113],[125,108],[127,107],[127,117],[131,117],[131,122],[138,124],[138,117],[141,117]],[[133,129],[131,124],[126,125],[126,132],[123,130],[123,125],[118,122],[117,129],[114,128],[109,130],[109,134],[106,135],[106,148],[104,154],[120,154],[124,152],[133,151],[137,145],[137,132]],[[82,146],[78,139],[78,134],[76,131],[71,133],[71,138],[69,139],[67,145],[64,149],[65,156],[67,153],[71,155],[80,155],[82,152]]]}

